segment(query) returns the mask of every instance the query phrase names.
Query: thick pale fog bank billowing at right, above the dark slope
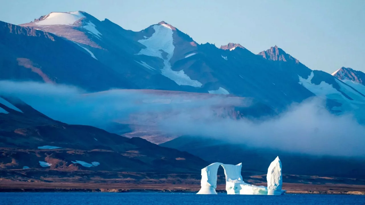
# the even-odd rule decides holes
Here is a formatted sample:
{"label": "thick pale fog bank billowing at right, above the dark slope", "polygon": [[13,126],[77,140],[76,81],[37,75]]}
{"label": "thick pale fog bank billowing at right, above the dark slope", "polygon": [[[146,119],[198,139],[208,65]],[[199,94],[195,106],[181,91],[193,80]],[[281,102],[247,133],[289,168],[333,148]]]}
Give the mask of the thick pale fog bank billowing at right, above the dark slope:
{"label": "thick pale fog bank billowing at right, above the dark slope", "polygon": [[[265,121],[193,119],[187,114],[161,122],[170,133],[223,139],[251,147],[314,155],[365,156],[365,127],[352,115],[333,115],[311,98]],[[197,113],[194,113],[196,115]]]}

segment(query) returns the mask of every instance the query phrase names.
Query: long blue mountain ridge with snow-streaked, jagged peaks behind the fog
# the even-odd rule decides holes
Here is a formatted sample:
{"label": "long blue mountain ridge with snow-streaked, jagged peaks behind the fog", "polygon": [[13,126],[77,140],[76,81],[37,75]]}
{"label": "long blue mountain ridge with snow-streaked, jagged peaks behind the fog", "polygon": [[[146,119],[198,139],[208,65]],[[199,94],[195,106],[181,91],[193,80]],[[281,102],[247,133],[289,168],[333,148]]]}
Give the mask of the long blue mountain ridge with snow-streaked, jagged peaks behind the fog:
{"label": "long blue mountain ridge with snow-streaked, jagged peaks behind the fog", "polygon": [[89,57],[121,74],[123,82],[142,89],[252,97],[278,112],[317,95],[325,96],[327,107],[341,114],[365,97],[356,96],[359,99],[353,103],[346,84],[312,71],[277,46],[255,55],[237,43],[220,49],[199,45],[164,21],[134,32],[76,11],[53,12],[21,26],[74,42]]}

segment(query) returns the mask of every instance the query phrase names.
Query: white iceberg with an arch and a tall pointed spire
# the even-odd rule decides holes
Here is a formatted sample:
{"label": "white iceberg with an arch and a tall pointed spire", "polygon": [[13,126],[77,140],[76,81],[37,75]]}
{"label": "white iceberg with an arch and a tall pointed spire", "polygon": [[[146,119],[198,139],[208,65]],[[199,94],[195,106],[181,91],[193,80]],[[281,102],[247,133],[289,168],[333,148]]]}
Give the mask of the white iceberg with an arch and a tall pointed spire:
{"label": "white iceberg with an arch and a tall pointed spire", "polygon": [[268,186],[255,186],[242,180],[242,163],[227,165],[219,162],[212,163],[201,169],[201,189],[197,194],[217,194],[217,172],[219,166],[224,169],[226,176],[227,194],[254,194],[254,195],[282,195],[283,177],[281,174],[281,162],[279,157],[270,163],[266,179]]}

